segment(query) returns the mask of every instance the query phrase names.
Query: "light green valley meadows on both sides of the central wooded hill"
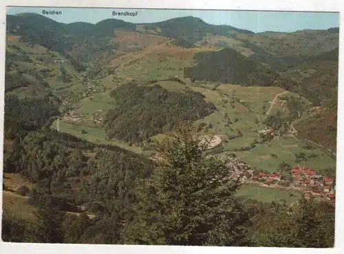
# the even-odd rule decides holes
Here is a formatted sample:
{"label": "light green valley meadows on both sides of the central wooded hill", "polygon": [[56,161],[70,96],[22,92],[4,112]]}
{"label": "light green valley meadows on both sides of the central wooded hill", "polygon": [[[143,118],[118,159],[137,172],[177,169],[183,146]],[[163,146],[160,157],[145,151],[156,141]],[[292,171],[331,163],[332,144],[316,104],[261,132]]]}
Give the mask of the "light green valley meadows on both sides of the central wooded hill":
{"label": "light green valley meadows on both sides of the central wooded hill", "polygon": [[[193,84],[190,80],[184,81],[186,86],[181,86],[177,82],[169,82],[166,89],[173,89],[173,91],[175,89],[177,91],[178,89],[191,89],[202,93],[205,100],[215,104],[217,111],[196,121],[195,124],[206,126],[203,135],[204,137],[213,137],[210,141],[210,148],[219,149],[221,157],[225,158],[229,154],[235,154],[237,158],[246,161],[251,167],[272,173],[279,169],[281,162],[292,166],[297,165],[297,154],[304,153],[312,155],[305,161],[301,161],[301,165],[305,167],[316,171],[335,168],[335,158],[330,156],[328,151],[316,144],[313,144],[311,150],[305,148],[305,141],[297,139],[294,135],[296,130],[292,124],[289,135],[277,136],[271,141],[257,143],[252,148],[241,149],[251,146],[252,142],[259,139],[258,132],[265,128],[263,119],[266,115],[272,115],[283,109],[286,101],[282,100],[281,96],[293,95],[293,93],[279,87]],[[136,153],[146,154],[149,151],[145,151],[142,146],[135,143],[129,144],[119,140],[105,139],[105,131],[94,123],[94,115],[104,111],[104,107],[111,107],[114,103],[111,102],[108,93],[94,93],[89,97],[93,97],[93,100],[84,99],[85,104],[83,102],[80,104],[81,108],[77,111],[78,113],[74,114],[76,117],[72,118],[73,121],[57,119],[52,124],[52,128],[58,128],[61,132],[67,132],[94,143],[112,144]],[[233,101],[233,98],[237,98],[237,100]],[[78,114],[83,117],[78,118]],[[230,135],[237,135],[237,130],[240,130],[242,135],[235,138],[230,137]],[[156,135],[151,139],[160,140],[163,137],[164,135]],[[312,145],[312,142],[310,143]],[[271,189],[271,186],[268,189]],[[293,192],[294,189],[286,188],[285,191]],[[252,194],[252,196],[255,195]]]}

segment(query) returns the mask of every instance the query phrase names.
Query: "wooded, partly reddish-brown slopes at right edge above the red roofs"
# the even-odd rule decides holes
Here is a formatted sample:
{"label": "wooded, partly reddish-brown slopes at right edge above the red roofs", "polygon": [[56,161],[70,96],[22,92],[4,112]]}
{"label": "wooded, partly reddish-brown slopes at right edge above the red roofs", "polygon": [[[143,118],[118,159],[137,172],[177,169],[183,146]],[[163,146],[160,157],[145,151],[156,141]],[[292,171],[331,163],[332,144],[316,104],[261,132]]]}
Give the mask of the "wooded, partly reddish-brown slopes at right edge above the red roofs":
{"label": "wooded, partly reddish-brown slopes at right edge above the red roofs", "polygon": [[[297,74],[295,75],[295,71]],[[336,150],[338,105],[338,48],[315,56],[290,70],[299,94],[321,108],[297,122],[298,135]],[[289,72],[286,72],[290,78]]]}

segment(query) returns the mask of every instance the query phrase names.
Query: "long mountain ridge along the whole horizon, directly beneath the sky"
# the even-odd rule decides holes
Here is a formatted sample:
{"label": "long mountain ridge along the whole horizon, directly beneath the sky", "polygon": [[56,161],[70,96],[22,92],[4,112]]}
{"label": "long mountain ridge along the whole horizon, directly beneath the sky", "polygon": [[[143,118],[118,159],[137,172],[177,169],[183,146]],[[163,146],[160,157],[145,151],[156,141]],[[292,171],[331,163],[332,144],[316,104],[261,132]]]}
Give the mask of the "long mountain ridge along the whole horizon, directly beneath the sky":
{"label": "long mountain ridge along the whole horizon, directly beneath the sky", "polygon": [[[109,43],[111,38],[116,37],[114,30],[127,30],[173,38],[184,41],[185,45],[190,46],[232,47],[252,60],[259,60],[277,69],[285,69],[308,60],[310,56],[338,47],[336,28],[255,34],[230,25],[208,24],[193,16],[148,24],[129,23],[118,19],[106,19],[96,24],[84,22],[64,24],[39,14],[17,14],[8,15],[7,26],[8,33],[22,36],[26,41],[34,40],[32,43],[56,51],[71,51],[72,47],[74,50],[82,47],[83,51],[96,52],[98,56],[100,52],[116,50],[116,47]],[[87,36],[87,42],[80,38],[83,36]],[[54,43],[47,38],[54,38]],[[59,38],[63,38],[63,41],[59,41]],[[309,41],[312,41],[312,44],[308,43]],[[92,43],[93,48],[89,46]],[[79,63],[86,57],[79,56],[75,52],[72,56]]]}

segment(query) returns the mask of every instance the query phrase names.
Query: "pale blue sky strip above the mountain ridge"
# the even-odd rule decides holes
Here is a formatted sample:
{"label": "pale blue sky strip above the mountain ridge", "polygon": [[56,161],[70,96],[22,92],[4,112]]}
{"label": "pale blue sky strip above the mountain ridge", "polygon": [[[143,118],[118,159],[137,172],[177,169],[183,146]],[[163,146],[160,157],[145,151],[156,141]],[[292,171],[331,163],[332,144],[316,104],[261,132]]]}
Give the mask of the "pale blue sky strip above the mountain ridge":
{"label": "pale blue sky strip above the mountain ridge", "polygon": [[[268,12],[268,11],[223,11],[223,10],[157,10],[157,9],[111,9],[111,8],[33,8],[11,7],[8,14],[42,10],[61,11],[61,16],[48,15],[62,23],[83,21],[97,23],[104,19],[122,19],[132,23],[153,23],[181,16],[199,17],[206,23],[231,25],[252,32],[294,32],[304,29],[327,29],[339,27],[338,12]],[[112,16],[112,12],[138,12],[137,16]]]}

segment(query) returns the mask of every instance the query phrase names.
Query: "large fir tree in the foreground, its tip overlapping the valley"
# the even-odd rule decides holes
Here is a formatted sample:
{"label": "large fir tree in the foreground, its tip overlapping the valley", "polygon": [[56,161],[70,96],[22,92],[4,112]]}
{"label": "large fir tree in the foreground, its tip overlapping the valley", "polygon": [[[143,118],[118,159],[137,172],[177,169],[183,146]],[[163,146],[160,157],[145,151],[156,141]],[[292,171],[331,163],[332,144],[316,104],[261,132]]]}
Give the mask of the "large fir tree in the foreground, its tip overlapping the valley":
{"label": "large fir tree in the foreground, its tip overlapping the valley", "polygon": [[123,243],[246,245],[248,215],[234,196],[239,183],[200,140],[191,124],[166,137],[159,167],[138,186],[136,215],[122,231]]}

